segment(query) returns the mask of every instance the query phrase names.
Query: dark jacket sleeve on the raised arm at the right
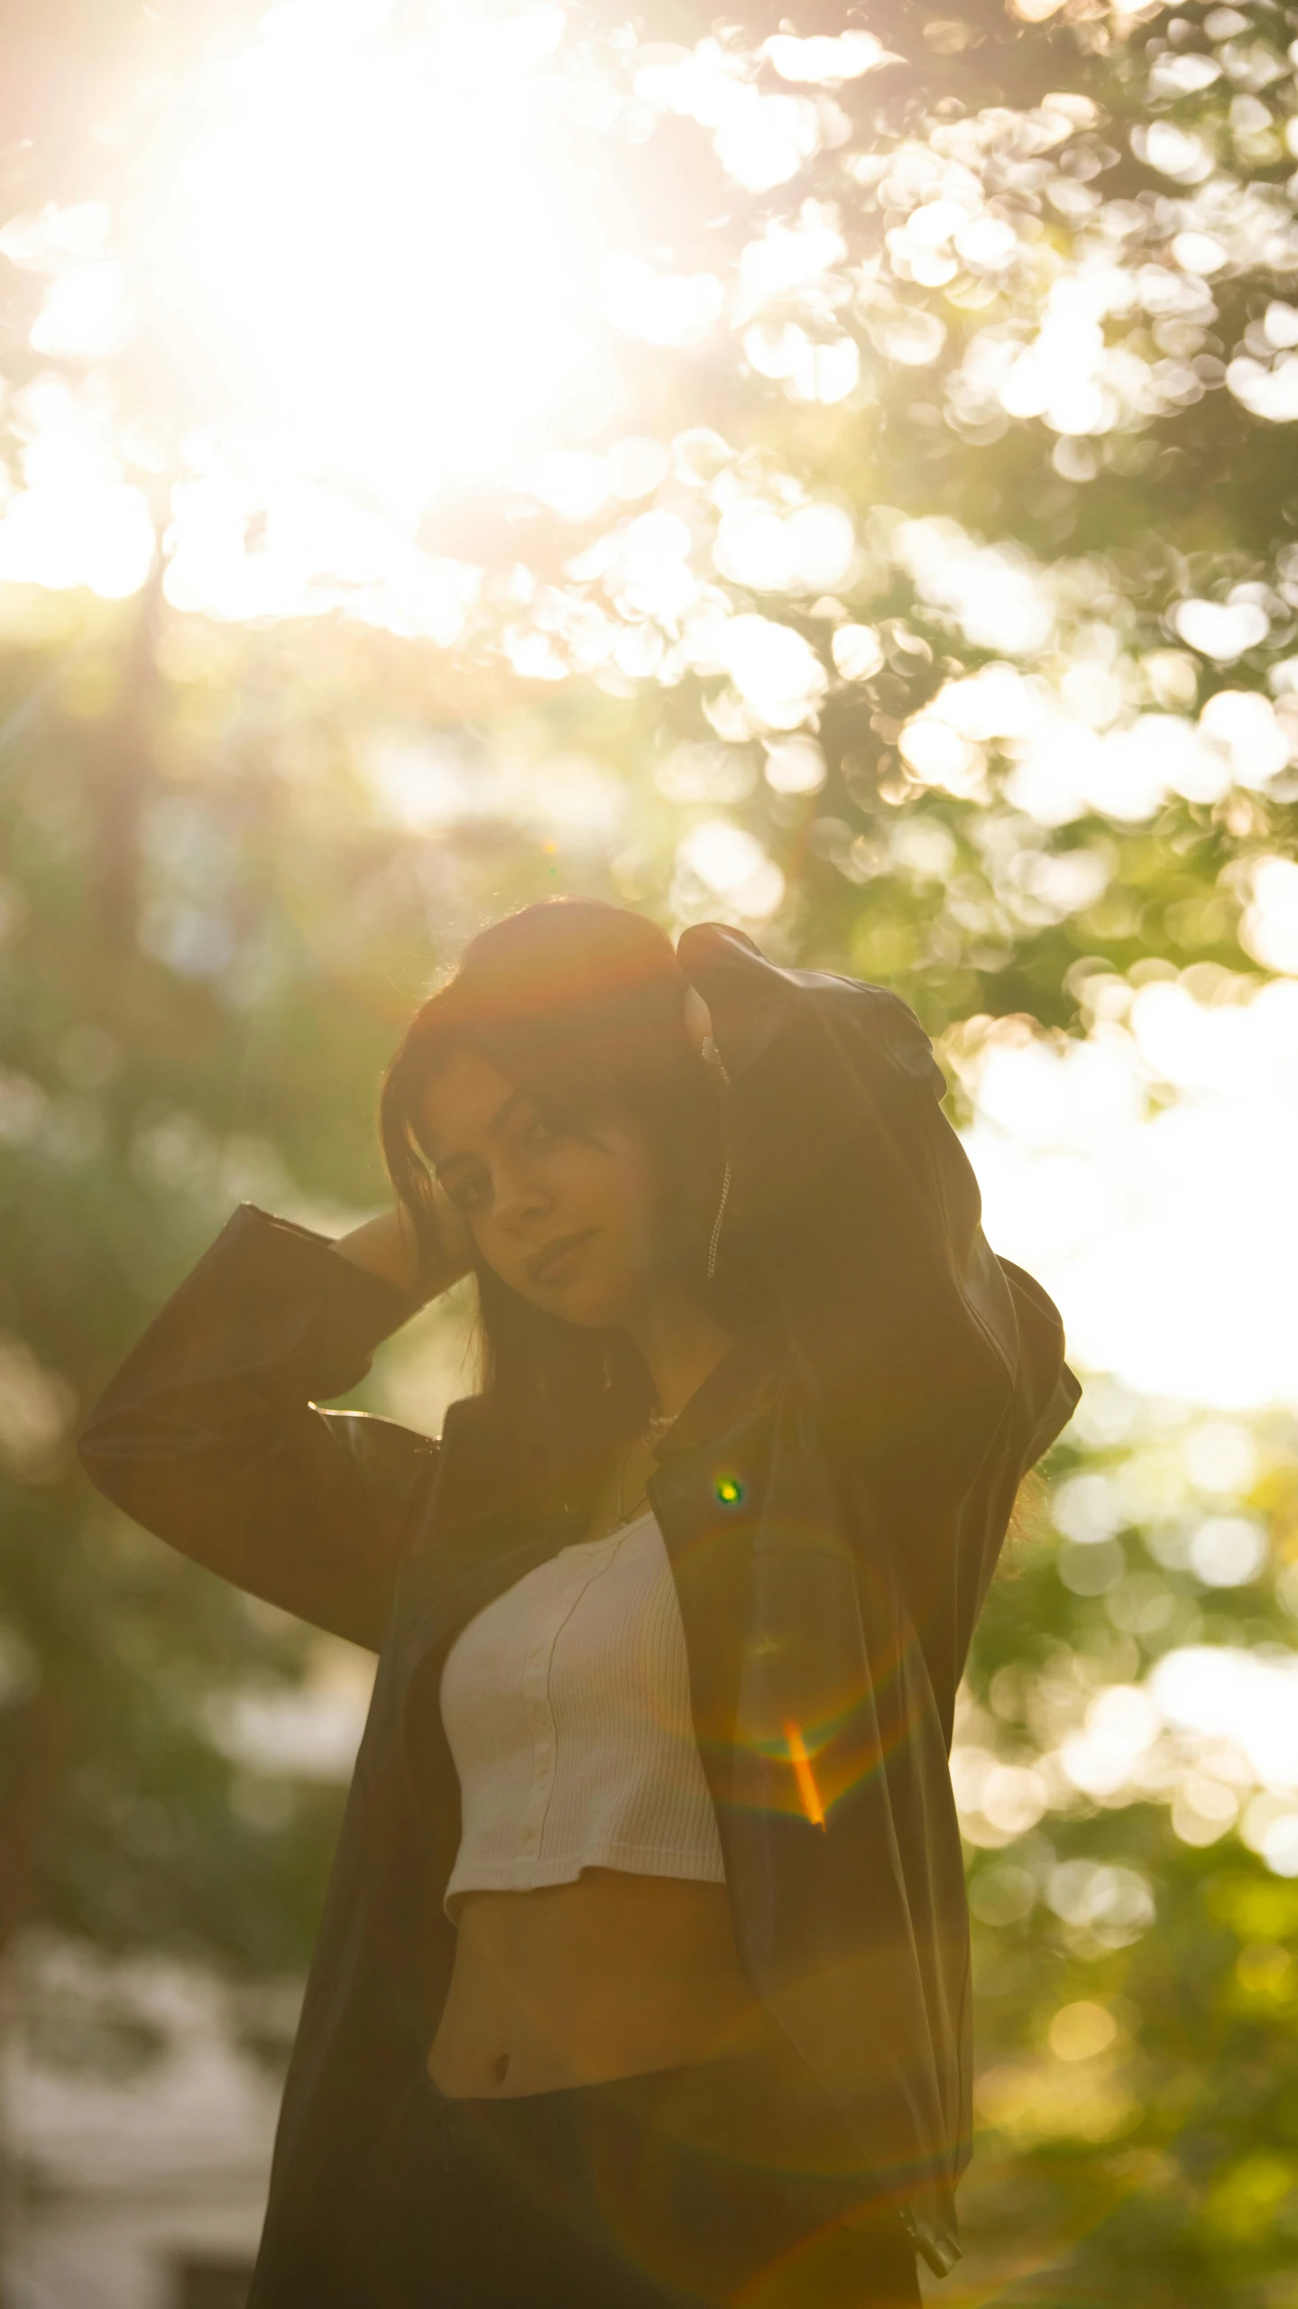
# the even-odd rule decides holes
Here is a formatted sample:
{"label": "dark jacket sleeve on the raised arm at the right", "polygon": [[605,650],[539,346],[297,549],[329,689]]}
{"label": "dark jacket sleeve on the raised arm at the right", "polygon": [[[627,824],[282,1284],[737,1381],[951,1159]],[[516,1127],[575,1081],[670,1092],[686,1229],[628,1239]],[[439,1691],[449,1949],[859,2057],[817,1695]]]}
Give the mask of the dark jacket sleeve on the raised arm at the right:
{"label": "dark jacket sleeve on the raised arm at the right", "polygon": [[1028,1305],[989,1249],[919,1018],[882,986],[778,970],[718,924],[677,956],[730,1078],[718,1279],[725,1261],[758,1279],[836,1441],[905,1487],[908,1522],[954,1508],[998,1443],[1016,1482],[1079,1388],[1051,1300],[1021,1277]]}

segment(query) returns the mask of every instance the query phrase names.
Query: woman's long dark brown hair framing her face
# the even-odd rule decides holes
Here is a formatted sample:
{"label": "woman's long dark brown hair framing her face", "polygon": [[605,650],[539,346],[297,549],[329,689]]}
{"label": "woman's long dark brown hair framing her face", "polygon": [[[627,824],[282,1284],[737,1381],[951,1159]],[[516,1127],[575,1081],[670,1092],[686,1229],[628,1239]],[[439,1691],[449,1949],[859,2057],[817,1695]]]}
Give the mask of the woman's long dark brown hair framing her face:
{"label": "woman's long dark brown hair framing her face", "polygon": [[[725,1171],[716,1085],[684,1030],[688,981],[658,924],[600,898],[545,898],[469,940],[453,977],[416,1011],[383,1078],[379,1131],[395,1194],[427,1258],[437,1210],[420,1108],[457,1048],[483,1051],[564,1129],[598,1143],[598,1118],[631,1111],[658,1185],[656,1256],[732,1330],[755,1316],[737,1286],[707,1277]],[[534,1307],[485,1261],[478,1284],[478,1390],[520,1415],[580,1415],[591,1390],[644,1392],[621,1335]]]}

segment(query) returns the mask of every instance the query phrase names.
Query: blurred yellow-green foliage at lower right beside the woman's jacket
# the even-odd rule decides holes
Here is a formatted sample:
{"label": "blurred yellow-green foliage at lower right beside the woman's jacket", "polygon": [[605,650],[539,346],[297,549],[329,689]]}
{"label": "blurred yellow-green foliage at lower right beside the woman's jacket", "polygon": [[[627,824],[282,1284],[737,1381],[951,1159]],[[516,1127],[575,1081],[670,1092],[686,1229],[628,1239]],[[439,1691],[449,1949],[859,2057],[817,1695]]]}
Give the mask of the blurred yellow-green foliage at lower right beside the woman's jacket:
{"label": "blurred yellow-green foliage at lower right beside the woman's jacket", "polygon": [[[1083,1436],[1058,1448],[1060,1496],[1079,1471],[1132,1480],[1166,1450],[1148,1434],[1120,1450]],[[1291,1494],[1291,1427],[1259,1441],[1270,1473],[1252,1496]],[[1203,1642],[1289,1653],[1284,1563],[1277,1579],[1206,1593],[1169,1531],[1148,1519],[1079,1545],[1042,1526],[1021,1542],[991,1593],[956,1734],[956,1785],[972,1748],[1051,1787],[1025,1833],[998,1833],[965,1778],[982,2067],[965,2219],[979,2270],[984,2256],[1030,2270],[1009,2297],[1042,2309],[1289,2297],[1298,1884],[1256,1852],[1254,1783],[1229,1741],[1146,1725],[1148,1746],[1134,1736],[1125,1766],[1106,1773],[1102,1755],[1095,1773],[1104,1706],[1139,1706],[1150,1672],[1157,1695],[1162,1658]],[[1097,1563],[1109,1545],[1118,1563]],[[1113,1741],[1113,1716],[1109,1727]],[[1069,1750],[1086,1736],[1090,1773]],[[1224,1817],[1196,1815],[1231,1773]],[[995,1792],[984,1801],[998,1810]]]}

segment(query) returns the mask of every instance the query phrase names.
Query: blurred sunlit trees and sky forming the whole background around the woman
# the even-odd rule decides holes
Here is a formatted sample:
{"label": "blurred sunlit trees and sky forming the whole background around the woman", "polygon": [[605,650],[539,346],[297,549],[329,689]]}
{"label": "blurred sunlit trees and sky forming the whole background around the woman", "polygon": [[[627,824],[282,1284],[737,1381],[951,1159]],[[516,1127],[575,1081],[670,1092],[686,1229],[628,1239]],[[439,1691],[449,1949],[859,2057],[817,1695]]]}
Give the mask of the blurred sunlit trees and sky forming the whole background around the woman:
{"label": "blurred sunlit trees and sky forming the whole background around the woman", "polygon": [[1086,1381],[933,2300],[1298,2304],[1298,12],[952,9],[0,12],[5,2309],[243,2302],[372,1667],[79,1408],[547,891],[905,995]]}

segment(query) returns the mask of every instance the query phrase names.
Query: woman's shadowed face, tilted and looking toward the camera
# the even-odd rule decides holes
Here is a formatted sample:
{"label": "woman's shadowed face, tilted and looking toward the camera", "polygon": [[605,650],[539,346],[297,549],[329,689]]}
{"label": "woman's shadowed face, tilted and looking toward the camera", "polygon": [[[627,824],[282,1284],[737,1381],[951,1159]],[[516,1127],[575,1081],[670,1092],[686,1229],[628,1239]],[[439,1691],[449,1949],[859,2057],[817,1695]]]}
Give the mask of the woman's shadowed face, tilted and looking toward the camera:
{"label": "woman's shadowed face, tilted and looking toward the camera", "polygon": [[437,1180],[501,1281],[568,1323],[621,1328],[649,1291],[654,1171],[635,1115],[594,1129],[591,1145],[547,1122],[471,1048],[443,1062],[420,1111]]}

